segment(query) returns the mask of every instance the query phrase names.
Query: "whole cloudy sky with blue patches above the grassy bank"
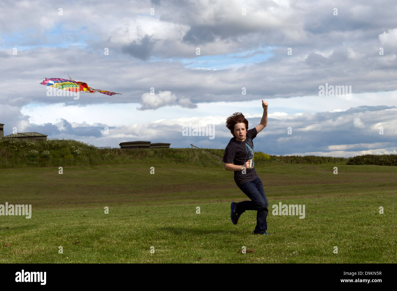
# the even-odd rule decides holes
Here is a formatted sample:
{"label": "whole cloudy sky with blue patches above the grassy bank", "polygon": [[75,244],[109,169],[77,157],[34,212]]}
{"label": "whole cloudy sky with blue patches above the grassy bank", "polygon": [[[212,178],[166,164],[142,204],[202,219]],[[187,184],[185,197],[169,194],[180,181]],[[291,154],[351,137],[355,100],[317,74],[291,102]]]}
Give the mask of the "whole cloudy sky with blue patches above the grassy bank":
{"label": "whole cloudy sky with blue patches above the grassy bank", "polygon": [[[2,0],[0,123],[98,147],[225,148],[227,117],[251,129],[263,99],[255,151],[397,154],[396,14],[382,0]],[[121,94],[40,85],[67,74]]]}

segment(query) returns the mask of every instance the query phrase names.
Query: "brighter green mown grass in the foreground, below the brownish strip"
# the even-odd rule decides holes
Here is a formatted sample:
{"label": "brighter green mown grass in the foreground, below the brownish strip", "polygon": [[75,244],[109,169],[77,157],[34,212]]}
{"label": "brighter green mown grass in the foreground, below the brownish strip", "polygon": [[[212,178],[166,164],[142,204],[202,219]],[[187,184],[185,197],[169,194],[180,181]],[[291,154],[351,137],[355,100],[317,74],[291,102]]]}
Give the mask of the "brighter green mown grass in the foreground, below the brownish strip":
{"label": "brighter green mown grass in the foreground, below the brownish strip", "polygon": [[[270,236],[252,234],[253,211],[245,212],[237,225],[231,224],[226,202],[116,206],[109,214],[100,207],[36,210],[30,220],[7,217],[0,231],[0,261],[395,263],[395,198],[283,199],[285,204],[305,204],[306,217],[270,213]],[[387,205],[384,214],[378,213],[381,204]],[[242,247],[254,252],[241,254]]]}

